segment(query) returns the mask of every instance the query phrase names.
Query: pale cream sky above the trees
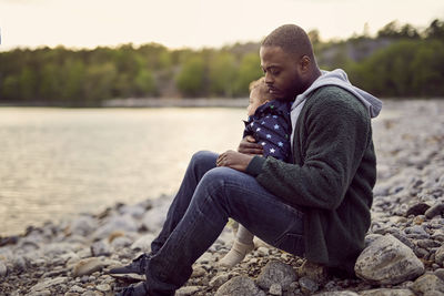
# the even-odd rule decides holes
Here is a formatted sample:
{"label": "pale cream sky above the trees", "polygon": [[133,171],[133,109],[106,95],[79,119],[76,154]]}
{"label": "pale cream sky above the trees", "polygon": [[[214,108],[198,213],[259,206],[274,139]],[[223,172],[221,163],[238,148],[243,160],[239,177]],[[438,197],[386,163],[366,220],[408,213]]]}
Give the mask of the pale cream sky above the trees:
{"label": "pale cream sky above the trees", "polygon": [[370,33],[392,20],[425,28],[443,0],[0,0],[0,51],[158,42],[169,48],[260,41],[284,23],[322,40]]}

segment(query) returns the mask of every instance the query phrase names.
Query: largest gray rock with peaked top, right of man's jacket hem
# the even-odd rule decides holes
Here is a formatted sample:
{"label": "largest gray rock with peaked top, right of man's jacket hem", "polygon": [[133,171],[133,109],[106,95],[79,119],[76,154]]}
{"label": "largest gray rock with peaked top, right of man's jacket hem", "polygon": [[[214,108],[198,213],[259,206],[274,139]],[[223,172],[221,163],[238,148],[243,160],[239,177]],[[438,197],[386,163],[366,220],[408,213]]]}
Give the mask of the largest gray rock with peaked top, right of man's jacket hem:
{"label": "largest gray rock with peaked top, right of man's jacket hem", "polygon": [[357,257],[356,275],[370,283],[398,284],[424,273],[424,264],[411,248],[387,234]]}

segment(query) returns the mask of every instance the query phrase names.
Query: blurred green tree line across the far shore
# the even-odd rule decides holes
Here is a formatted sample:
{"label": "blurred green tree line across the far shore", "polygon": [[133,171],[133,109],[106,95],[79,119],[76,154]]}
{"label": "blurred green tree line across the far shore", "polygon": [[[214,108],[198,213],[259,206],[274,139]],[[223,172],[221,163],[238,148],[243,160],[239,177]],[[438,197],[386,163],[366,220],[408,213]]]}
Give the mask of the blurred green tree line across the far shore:
{"label": "blurred green tree line across the far shore", "polygon": [[[323,42],[309,32],[322,69],[343,68],[357,86],[392,98],[444,96],[444,22],[418,30],[391,22],[374,38],[364,31]],[[63,47],[0,52],[0,103],[100,106],[124,98],[238,98],[262,75],[260,43],[170,50],[123,44],[93,50]]]}

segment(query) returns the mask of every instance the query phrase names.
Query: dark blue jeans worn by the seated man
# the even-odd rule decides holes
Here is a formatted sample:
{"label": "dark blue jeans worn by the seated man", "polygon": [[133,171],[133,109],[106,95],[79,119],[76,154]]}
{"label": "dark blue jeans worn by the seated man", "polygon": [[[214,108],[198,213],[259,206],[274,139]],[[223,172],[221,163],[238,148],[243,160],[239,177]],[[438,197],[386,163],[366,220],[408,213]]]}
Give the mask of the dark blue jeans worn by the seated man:
{"label": "dark blue jeans worn by the seated man", "polygon": [[159,236],[152,242],[147,286],[150,295],[174,295],[192,264],[214,243],[228,218],[266,243],[302,256],[303,213],[263,188],[253,176],[216,167],[218,154],[193,155]]}

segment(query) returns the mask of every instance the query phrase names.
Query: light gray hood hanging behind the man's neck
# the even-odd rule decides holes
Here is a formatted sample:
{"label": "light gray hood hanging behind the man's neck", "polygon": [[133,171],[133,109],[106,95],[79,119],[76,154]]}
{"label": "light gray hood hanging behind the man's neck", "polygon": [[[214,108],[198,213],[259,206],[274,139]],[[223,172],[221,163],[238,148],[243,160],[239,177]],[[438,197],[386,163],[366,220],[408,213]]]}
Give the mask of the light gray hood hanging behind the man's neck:
{"label": "light gray hood hanging behind the man's neck", "polygon": [[297,108],[302,102],[305,101],[310,94],[317,90],[321,86],[325,85],[335,85],[340,86],[350,93],[352,93],[357,100],[360,100],[369,111],[371,118],[376,118],[382,109],[382,102],[377,98],[373,96],[372,94],[352,85],[350,83],[347,74],[342,69],[336,69],[333,71],[323,71],[321,70],[322,75],[319,76],[309,89],[306,89],[303,93],[296,96],[292,110]]}

